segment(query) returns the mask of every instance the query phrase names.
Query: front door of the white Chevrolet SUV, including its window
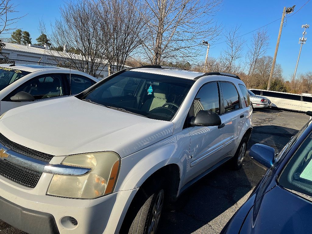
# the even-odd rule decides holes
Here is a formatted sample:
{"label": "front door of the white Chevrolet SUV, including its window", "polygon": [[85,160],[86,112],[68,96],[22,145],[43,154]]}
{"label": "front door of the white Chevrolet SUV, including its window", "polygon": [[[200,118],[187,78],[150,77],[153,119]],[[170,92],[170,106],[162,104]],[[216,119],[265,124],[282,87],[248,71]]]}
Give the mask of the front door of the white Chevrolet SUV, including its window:
{"label": "front door of the white Chevrolet SUV, including its window", "polygon": [[[210,110],[220,114],[220,95],[217,82],[203,85],[198,91],[189,117],[196,116],[199,110]],[[222,123],[223,117],[220,116]],[[218,126],[189,127],[190,156],[185,177],[185,183],[203,173],[219,161],[224,135]]]}

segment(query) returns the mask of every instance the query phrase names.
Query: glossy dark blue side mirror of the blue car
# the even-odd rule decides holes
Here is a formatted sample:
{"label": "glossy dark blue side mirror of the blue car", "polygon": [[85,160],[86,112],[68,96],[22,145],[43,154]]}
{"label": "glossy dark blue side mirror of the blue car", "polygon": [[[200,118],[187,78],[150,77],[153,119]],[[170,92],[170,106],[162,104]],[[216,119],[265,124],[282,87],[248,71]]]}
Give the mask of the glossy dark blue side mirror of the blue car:
{"label": "glossy dark blue side mirror of the blue car", "polygon": [[274,163],[275,149],[263,144],[254,144],[249,150],[249,155],[263,166],[271,168]]}

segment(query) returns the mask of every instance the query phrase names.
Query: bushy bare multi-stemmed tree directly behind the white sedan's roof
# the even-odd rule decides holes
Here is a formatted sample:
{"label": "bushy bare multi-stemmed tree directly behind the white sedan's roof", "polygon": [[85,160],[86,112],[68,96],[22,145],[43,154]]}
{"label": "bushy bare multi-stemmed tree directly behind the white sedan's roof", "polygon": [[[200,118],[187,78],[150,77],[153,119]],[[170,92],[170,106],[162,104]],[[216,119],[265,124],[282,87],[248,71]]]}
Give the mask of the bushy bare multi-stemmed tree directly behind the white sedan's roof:
{"label": "bushy bare multi-stemmed tree directly behind the white sedan's roof", "polygon": [[[67,2],[60,12],[61,19],[52,27],[50,40],[55,47],[64,49],[55,59],[60,66],[96,76],[107,64],[107,48],[103,46],[107,32],[101,28],[97,5],[89,0]],[[42,28],[42,24],[39,26]]]}

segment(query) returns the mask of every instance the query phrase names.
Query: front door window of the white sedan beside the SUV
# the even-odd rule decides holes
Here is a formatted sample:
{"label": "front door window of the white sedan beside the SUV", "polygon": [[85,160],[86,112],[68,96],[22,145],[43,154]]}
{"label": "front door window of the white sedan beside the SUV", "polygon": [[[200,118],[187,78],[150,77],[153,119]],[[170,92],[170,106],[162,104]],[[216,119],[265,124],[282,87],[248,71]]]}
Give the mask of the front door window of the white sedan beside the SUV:
{"label": "front door window of the white sedan beside the SUV", "polygon": [[19,86],[10,94],[10,96],[17,94],[20,91],[31,94],[35,100],[63,96],[64,86],[62,76],[60,74],[49,74],[33,78]]}

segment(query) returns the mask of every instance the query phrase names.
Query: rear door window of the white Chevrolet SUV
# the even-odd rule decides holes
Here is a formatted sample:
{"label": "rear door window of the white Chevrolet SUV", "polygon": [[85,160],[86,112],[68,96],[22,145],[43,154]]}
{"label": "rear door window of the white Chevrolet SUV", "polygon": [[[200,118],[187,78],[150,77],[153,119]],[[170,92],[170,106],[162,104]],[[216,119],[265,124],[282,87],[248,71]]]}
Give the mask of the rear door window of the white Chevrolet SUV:
{"label": "rear door window of the white Chevrolet SUV", "polygon": [[221,82],[224,102],[224,113],[239,109],[239,95],[231,83]]}

